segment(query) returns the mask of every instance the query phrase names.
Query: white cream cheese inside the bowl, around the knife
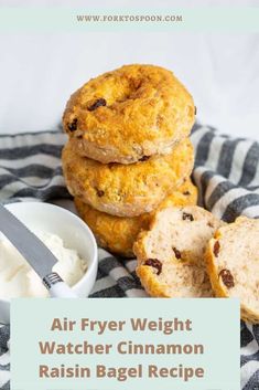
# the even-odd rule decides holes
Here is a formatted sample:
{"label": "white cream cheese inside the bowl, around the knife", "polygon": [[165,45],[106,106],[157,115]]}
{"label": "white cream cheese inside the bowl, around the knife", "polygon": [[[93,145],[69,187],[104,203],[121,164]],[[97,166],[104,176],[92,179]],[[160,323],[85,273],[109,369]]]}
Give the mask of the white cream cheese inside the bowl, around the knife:
{"label": "white cream cheese inside the bowl, around the knife", "polygon": [[[75,250],[65,247],[63,240],[55,234],[47,232],[35,234],[58,260],[53,271],[57,272],[69,286],[75,285],[86,272],[86,260],[80,259]],[[0,298],[30,296],[47,297],[48,293],[18,250],[0,235]]]}

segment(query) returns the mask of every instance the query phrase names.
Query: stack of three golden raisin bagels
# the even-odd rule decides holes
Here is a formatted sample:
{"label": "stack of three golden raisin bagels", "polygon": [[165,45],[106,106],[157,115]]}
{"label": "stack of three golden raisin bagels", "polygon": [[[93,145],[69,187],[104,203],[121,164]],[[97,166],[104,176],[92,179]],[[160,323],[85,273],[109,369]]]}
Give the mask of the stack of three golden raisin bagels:
{"label": "stack of three golden raisin bagels", "polygon": [[188,135],[193,98],[172,72],[126,65],[90,80],[69,98],[63,171],[79,215],[98,243],[131,257],[155,210],[195,204]]}

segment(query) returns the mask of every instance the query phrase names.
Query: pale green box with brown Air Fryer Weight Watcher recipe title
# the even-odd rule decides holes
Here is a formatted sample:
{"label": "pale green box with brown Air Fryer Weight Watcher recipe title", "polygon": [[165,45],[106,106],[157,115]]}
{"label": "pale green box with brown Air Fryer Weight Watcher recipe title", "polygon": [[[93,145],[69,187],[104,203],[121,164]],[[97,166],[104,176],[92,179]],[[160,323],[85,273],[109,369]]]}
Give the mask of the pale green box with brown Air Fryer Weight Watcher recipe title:
{"label": "pale green box with brown Air Fryer Weight Watcher recipe title", "polygon": [[236,299],[14,299],[12,390],[239,390],[239,330]]}

